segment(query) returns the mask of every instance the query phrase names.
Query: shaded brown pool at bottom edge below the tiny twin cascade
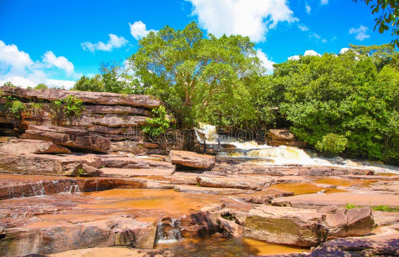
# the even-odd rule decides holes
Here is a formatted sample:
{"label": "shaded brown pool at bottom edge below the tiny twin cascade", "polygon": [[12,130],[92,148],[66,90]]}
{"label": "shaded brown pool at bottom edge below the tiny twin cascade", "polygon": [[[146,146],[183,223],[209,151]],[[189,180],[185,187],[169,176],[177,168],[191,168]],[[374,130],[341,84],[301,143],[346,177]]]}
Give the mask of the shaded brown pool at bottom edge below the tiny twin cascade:
{"label": "shaded brown pool at bottom edge below the tiny twin cascade", "polygon": [[294,254],[307,251],[253,239],[225,239],[218,235],[157,244],[155,248],[170,249],[176,257],[242,257]]}

